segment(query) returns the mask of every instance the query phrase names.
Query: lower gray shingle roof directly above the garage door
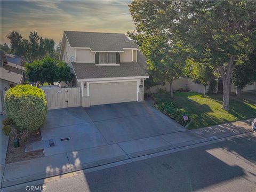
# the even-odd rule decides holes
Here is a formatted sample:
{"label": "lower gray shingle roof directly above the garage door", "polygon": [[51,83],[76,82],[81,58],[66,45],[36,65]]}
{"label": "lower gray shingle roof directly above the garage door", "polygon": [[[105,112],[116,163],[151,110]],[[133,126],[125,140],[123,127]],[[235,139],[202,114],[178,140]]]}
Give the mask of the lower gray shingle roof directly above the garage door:
{"label": "lower gray shingle roof directly above the garage door", "polygon": [[147,76],[137,62],[120,63],[120,66],[95,66],[94,63],[74,63],[78,79]]}

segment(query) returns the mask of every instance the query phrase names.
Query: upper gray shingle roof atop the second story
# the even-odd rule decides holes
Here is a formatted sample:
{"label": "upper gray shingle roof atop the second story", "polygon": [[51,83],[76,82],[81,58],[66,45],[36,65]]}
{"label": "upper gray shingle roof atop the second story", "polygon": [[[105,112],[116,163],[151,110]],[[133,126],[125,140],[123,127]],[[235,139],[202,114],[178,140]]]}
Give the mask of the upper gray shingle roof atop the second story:
{"label": "upper gray shingle roof atop the second story", "polygon": [[90,47],[92,51],[123,51],[138,48],[124,34],[64,31],[71,47]]}

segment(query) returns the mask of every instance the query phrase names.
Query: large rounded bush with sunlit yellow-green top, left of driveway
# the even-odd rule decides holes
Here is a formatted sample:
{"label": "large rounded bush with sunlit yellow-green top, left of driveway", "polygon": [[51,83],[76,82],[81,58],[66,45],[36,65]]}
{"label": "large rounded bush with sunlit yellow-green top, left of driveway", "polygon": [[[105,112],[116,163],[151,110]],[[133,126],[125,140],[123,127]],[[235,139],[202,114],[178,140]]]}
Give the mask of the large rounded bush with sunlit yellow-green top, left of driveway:
{"label": "large rounded bush with sunlit yellow-green top, left of driveway", "polygon": [[47,101],[43,90],[17,85],[5,94],[6,113],[19,132],[38,130],[45,121]]}

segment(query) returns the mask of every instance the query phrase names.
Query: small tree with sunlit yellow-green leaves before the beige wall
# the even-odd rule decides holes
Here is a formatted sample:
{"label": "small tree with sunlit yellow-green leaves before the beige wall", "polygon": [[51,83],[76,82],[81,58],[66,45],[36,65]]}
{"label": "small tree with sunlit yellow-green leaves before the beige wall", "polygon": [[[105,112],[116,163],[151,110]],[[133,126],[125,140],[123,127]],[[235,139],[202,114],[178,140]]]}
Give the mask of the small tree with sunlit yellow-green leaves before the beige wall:
{"label": "small tree with sunlit yellow-green leaves before the beige wall", "polygon": [[187,60],[187,66],[184,70],[185,75],[195,83],[204,85],[204,97],[206,93],[206,86],[210,84],[211,80],[214,80],[214,70],[207,63],[199,63],[193,60]]}

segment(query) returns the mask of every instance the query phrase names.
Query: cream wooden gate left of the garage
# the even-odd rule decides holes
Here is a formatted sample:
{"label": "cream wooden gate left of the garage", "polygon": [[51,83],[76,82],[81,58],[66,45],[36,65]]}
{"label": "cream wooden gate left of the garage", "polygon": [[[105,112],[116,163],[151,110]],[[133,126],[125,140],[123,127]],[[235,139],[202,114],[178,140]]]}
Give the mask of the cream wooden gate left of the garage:
{"label": "cream wooden gate left of the garage", "polygon": [[81,106],[79,87],[44,90],[48,109]]}

